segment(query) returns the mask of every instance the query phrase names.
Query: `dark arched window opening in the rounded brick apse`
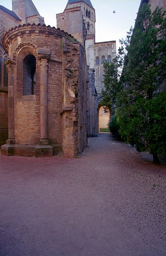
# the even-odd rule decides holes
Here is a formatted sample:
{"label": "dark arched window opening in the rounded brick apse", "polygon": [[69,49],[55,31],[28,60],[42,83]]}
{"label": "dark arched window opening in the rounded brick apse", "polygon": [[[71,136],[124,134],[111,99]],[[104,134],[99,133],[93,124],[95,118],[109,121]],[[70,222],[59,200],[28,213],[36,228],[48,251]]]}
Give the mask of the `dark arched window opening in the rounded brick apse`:
{"label": "dark arched window opening in the rounded brick apse", "polygon": [[23,60],[23,95],[36,93],[36,58],[27,55]]}

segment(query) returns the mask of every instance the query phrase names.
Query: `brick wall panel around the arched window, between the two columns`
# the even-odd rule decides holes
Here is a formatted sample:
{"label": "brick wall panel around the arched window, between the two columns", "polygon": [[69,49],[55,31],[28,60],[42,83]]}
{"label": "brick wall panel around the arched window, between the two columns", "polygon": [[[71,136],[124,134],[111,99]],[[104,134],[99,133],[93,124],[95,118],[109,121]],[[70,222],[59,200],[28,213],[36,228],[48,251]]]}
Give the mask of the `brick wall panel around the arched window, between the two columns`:
{"label": "brick wall panel around the arched window, between the two columns", "polygon": [[[27,42],[27,38],[25,42]],[[13,45],[11,44],[13,47]],[[14,49],[14,48],[13,48]],[[37,49],[28,44],[23,44],[15,56],[14,70],[14,132],[16,144],[35,145],[40,139],[40,65],[37,60],[37,88],[36,95],[23,96],[23,70],[24,58],[27,55],[37,58]]]}

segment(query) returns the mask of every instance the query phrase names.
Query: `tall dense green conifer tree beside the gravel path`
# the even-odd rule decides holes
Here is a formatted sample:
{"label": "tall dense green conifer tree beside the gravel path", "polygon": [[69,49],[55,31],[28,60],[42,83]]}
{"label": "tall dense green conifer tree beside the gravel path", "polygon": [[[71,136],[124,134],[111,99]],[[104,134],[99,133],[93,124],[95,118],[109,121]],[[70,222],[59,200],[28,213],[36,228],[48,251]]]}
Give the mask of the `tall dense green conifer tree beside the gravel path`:
{"label": "tall dense green conifer tree beside the gravel path", "polygon": [[143,4],[132,35],[128,33],[127,40],[121,41],[121,79],[113,78],[111,89],[108,82],[106,87],[117,105],[121,137],[139,152],[149,151],[156,163],[158,154],[166,153],[166,92],[160,90],[166,79],[165,15],[162,9],[157,7],[152,13],[150,6]]}

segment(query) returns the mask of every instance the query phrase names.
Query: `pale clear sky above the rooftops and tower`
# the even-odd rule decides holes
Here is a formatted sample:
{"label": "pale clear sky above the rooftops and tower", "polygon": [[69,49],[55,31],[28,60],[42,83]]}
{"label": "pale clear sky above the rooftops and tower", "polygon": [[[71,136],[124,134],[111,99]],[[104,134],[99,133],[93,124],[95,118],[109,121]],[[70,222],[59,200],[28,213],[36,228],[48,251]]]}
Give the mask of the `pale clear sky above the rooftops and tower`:
{"label": "pale clear sky above the rooftops and tower", "polygon": [[[45,24],[56,27],[56,14],[64,11],[68,0],[32,0]],[[141,0],[91,0],[96,11],[96,42],[116,41],[125,38],[135,24]],[[12,9],[11,0],[0,0],[0,5]],[[115,13],[113,11],[115,10]]]}

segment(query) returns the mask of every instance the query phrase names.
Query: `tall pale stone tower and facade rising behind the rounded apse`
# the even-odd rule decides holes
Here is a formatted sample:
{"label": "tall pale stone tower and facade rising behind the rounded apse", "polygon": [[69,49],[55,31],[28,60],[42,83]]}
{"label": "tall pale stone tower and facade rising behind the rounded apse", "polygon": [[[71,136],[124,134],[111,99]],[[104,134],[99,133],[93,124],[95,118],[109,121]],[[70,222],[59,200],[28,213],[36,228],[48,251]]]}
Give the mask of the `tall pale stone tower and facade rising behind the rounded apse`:
{"label": "tall pale stone tower and facade rising behind the rounded apse", "polygon": [[[116,42],[108,41],[96,43],[96,14],[90,0],[68,0],[64,12],[56,15],[56,20],[57,27],[72,34],[78,41],[85,45],[87,65],[89,66],[90,76],[90,111],[88,113],[87,133],[89,137],[95,137],[99,131],[98,110],[101,107],[101,90],[104,88],[104,84],[102,83],[103,64],[104,61],[107,60],[110,62],[113,60],[113,58],[115,58]],[[85,31],[87,32],[87,35]],[[92,74],[93,79],[91,79]]]}

